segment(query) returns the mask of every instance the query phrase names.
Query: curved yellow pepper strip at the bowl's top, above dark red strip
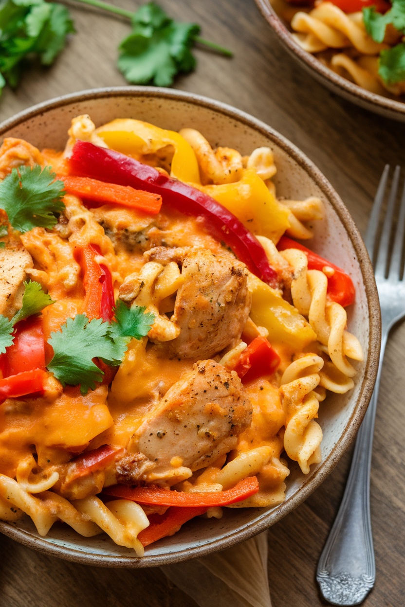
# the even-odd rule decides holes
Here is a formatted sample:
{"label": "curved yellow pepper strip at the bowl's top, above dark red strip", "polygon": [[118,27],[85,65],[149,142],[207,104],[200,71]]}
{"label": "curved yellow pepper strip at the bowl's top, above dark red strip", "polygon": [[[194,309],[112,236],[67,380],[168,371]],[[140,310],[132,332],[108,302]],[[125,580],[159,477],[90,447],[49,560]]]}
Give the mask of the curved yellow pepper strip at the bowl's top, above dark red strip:
{"label": "curved yellow pepper strip at the bowl's top, above dark red strip", "polygon": [[96,134],[109,148],[127,156],[155,154],[165,146],[172,145],[171,177],[200,183],[196,154],[188,141],[175,131],[166,131],[141,120],[117,118],[97,129]]}

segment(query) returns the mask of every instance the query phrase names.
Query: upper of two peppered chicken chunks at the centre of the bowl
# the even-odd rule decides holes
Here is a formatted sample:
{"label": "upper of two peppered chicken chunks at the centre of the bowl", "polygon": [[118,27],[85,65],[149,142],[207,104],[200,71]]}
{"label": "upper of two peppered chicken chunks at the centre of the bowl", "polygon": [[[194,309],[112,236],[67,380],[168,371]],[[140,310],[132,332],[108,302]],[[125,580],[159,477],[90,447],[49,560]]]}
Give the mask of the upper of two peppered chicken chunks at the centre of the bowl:
{"label": "upper of two peppered chicken chunks at the centre of the bowl", "polygon": [[240,338],[251,296],[244,263],[208,249],[191,249],[182,266],[171,321],[180,335],[165,348],[178,358],[212,358]]}

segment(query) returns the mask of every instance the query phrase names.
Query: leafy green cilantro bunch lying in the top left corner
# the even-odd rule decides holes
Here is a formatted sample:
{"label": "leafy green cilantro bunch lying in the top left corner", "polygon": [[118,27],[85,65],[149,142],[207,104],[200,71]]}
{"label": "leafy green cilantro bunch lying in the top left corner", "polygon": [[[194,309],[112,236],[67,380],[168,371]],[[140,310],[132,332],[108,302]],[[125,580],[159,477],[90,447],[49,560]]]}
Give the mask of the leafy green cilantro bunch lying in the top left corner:
{"label": "leafy green cilantro bunch lying in the top left corner", "polygon": [[74,32],[69,11],[45,0],[0,2],[0,90],[6,81],[16,87],[22,63],[32,56],[49,66]]}

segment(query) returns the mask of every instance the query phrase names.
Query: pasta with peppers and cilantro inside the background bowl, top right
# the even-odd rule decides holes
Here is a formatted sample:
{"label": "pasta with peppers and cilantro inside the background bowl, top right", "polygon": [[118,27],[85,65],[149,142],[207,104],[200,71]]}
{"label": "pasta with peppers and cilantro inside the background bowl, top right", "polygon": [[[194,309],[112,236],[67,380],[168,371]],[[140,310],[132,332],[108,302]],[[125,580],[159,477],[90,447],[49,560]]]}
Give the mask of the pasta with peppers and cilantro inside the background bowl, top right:
{"label": "pasta with peppers and cilantro inside the background bowl, top right", "polygon": [[377,95],[405,93],[405,12],[398,0],[276,0],[274,9],[299,46],[334,72]]}

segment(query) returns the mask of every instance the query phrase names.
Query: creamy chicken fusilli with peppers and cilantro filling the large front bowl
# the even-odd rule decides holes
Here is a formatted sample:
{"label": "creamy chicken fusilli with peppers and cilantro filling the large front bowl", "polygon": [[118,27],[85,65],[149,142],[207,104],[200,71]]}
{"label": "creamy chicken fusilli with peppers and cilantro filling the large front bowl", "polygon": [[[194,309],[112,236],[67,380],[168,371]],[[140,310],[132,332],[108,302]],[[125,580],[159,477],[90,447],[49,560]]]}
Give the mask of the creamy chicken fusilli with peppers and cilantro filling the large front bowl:
{"label": "creamy chicken fusilli with peppers and cilantro filling the large front bowl", "polygon": [[323,204],[277,198],[270,148],[87,115],[68,135],[0,148],[0,520],[141,556],[321,462],[355,288],[302,245]]}

